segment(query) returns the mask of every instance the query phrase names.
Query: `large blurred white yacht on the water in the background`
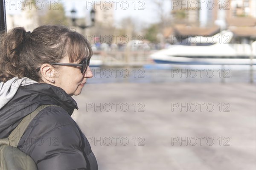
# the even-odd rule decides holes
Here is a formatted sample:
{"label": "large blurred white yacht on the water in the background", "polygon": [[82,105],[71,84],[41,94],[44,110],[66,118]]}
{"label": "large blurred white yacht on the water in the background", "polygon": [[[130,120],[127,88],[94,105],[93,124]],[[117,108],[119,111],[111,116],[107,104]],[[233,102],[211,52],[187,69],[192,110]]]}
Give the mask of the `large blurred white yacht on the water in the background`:
{"label": "large blurred white yacht on the water in the background", "polygon": [[[233,33],[222,31],[212,37],[191,37],[151,54],[156,63],[194,65],[256,65],[256,43],[230,44]],[[183,44],[183,45],[182,45]],[[252,58],[252,59],[251,59]]]}

